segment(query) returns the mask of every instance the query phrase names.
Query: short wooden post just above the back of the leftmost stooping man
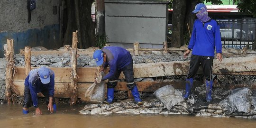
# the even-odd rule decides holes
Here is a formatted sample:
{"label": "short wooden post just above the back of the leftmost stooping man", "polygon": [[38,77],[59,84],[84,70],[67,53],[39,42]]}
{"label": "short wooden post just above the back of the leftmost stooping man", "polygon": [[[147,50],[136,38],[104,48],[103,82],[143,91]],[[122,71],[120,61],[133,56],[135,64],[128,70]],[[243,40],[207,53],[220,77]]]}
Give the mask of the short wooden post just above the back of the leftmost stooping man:
{"label": "short wooden post just above the back of the leftmost stooping man", "polygon": [[26,76],[31,70],[31,50],[30,46],[25,46],[25,73]]}

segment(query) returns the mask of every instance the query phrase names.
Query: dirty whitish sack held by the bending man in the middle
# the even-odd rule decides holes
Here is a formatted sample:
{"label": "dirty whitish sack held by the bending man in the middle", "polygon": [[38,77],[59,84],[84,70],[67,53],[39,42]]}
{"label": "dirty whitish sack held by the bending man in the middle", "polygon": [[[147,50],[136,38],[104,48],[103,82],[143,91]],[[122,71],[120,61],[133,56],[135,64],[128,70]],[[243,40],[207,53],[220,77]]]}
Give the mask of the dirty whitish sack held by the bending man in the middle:
{"label": "dirty whitish sack held by the bending man in the middle", "polygon": [[85,91],[84,97],[81,98],[82,101],[89,103],[103,103],[105,100],[105,83],[101,81],[103,72],[100,73],[101,76],[97,77],[96,82],[92,83],[91,86]]}

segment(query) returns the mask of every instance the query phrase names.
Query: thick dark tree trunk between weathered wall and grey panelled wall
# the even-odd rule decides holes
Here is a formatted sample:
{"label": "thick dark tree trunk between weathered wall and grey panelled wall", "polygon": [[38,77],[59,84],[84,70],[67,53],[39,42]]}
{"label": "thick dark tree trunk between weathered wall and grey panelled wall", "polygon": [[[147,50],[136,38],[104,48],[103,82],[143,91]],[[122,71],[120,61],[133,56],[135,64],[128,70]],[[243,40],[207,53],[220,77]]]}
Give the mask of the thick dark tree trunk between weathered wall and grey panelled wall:
{"label": "thick dark tree trunk between weathered wall and grey panelled wall", "polygon": [[[94,26],[91,19],[91,4],[94,0],[77,0],[78,12],[75,12],[75,1],[66,0],[67,3],[67,29],[64,35],[63,45],[71,45],[72,43],[72,33],[79,31],[79,44],[82,48],[88,48],[90,46],[95,46],[95,32]],[[77,21],[79,20],[79,21]],[[79,24],[78,24],[79,23]],[[77,26],[78,25],[78,26]],[[81,36],[80,36],[81,35]],[[81,40],[81,41],[80,41]],[[79,45],[78,44],[78,45]],[[81,48],[81,46],[79,46]]]}

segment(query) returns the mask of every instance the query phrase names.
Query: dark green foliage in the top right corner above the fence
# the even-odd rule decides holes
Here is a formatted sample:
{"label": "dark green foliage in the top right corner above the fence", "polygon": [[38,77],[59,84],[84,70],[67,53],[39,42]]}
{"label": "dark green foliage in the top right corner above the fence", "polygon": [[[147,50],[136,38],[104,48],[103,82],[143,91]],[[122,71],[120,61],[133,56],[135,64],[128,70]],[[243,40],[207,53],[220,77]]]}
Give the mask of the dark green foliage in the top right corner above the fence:
{"label": "dark green foliage in the top right corner above the fence", "polygon": [[235,0],[241,13],[253,15],[256,18],[256,0]]}

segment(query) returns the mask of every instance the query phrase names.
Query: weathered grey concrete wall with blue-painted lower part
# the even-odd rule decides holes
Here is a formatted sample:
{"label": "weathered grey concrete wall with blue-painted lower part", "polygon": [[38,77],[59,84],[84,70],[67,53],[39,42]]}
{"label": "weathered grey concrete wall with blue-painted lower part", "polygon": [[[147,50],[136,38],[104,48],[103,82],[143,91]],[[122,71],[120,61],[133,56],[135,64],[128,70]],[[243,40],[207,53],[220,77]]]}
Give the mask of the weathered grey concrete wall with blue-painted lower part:
{"label": "weathered grey concrete wall with blue-painted lower part", "polygon": [[60,0],[36,0],[28,23],[27,0],[0,0],[0,57],[4,57],[3,45],[14,39],[15,53],[24,46],[59,48]]}

